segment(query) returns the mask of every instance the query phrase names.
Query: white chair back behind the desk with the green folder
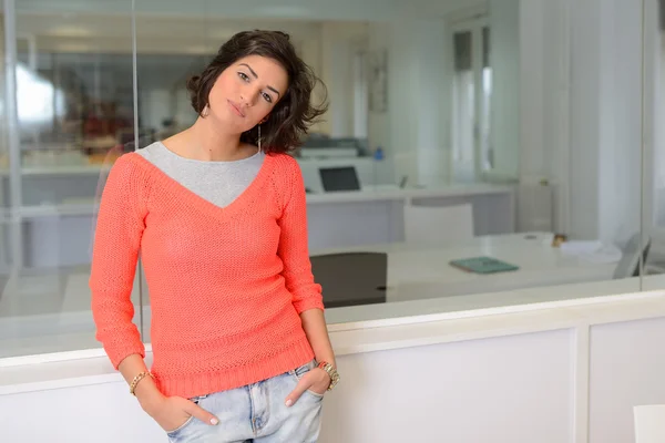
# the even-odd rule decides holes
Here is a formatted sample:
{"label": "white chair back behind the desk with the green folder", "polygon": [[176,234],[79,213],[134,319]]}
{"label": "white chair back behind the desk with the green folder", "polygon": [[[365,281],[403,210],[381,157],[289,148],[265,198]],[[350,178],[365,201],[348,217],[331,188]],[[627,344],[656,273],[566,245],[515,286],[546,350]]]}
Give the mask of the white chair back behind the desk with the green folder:
{"label": "white chair back behind the desk with the green folder", "polygon": [[405,240],[412,245],[442,245],[473,238],[473,208],[405,205]]}

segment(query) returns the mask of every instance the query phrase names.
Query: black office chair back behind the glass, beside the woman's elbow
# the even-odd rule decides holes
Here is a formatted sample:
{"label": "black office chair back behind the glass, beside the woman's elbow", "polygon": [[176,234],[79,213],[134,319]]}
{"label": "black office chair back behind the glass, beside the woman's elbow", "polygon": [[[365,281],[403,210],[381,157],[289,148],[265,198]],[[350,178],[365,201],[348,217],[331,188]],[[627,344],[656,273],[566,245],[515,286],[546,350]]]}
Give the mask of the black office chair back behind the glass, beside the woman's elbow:
{"label": "black office chair back behind the glass, beside the woman's elbow", "polygon": [[326,308],[386,302],[388,255],[341,253],[313,256],[311,272]]}

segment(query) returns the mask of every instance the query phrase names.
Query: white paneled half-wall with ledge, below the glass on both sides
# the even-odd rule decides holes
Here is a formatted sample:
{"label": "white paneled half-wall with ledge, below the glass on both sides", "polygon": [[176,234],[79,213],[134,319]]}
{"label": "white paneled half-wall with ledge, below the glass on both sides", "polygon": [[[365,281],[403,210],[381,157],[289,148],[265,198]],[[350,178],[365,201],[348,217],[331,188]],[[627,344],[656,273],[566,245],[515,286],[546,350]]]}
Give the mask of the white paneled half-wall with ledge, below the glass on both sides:
{"label": "white paneled half-wall with ledge, below the glass on both sides", "polygon": [[[334,324],[342,381],[319,442],[632,441],[632,405],[665,402],[665,292],[637,286],[491,295],[488,309],[467,297],[393,303],[400,317]],[[0,365],[8,441],[164,441],[100,350]]]}

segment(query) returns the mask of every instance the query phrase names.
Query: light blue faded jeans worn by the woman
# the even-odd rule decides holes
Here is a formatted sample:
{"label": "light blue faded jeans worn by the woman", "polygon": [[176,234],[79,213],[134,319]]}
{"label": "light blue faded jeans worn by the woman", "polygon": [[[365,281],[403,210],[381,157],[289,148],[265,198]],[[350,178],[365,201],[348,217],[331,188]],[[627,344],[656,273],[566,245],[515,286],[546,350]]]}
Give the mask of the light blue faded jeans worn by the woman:
{"label": "light blue faded jeans worn by the woman", "polygon": [[306,391],[290,408],[284,404],[298,380],[314,368],[316,361],[258,383],[194,398],[219,424],[190,419],[168,432],[168,439],[172,443],[315,443],[324,396]]}

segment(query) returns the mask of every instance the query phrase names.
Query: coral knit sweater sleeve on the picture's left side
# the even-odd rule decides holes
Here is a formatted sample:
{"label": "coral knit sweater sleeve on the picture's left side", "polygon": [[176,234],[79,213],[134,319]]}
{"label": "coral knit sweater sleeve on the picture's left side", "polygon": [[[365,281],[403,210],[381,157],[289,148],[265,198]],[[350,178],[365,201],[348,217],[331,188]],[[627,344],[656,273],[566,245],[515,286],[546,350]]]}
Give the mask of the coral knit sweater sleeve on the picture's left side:
{"label": "coral knit sweater sleeve on the picture's left side", "polygon": [[113,367],[137,353],[145,357],[131,300],[143,235],[146,189],[142,171],[129,154],[112,166],[100,202],[90,289],[96,339]]}

